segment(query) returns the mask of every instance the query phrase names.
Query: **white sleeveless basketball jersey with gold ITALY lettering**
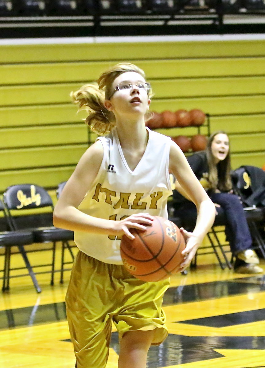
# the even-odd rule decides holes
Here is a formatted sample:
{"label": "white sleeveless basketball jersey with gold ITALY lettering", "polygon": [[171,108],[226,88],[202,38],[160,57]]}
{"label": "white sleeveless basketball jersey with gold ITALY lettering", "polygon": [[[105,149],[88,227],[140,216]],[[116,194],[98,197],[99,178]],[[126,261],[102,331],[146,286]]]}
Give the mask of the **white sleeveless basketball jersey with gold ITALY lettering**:
{"label": "white sleeveless basketball jersey with gold ITALY lettering", "polygon": [[[167,218],[167,198],[172,194],[168,174],[170,137],[151,131],[142,159],[132,171],[126,163],[116,129],[99,137],[104,156],[93,186],[79,205],[88,215],[121,220],[146,212]],[[74,232],[77,247],[99,261],[122,264],[120,240],[115,236]]]}

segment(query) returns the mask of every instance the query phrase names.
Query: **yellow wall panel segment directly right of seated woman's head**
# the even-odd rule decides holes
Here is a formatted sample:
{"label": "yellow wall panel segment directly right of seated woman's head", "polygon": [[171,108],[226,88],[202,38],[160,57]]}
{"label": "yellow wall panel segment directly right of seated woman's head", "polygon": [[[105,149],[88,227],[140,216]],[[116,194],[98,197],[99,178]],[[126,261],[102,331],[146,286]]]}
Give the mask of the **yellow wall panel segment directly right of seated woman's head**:
{"label": "yellow wall panel segment directly right of seated woman's head", "polygon": [[265,129],[263,133],[231,134],[230,145],[233,153],[263,151],[265,160]]}

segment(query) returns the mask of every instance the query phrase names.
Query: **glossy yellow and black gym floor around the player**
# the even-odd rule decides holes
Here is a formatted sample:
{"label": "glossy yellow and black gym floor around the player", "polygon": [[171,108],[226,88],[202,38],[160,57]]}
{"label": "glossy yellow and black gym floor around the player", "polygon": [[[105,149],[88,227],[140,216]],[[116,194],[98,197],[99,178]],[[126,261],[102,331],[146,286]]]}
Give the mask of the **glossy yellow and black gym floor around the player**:
{"label": "glossy yellow and black gym floor around the player", "polygon": [[[56,273],[53,287],[49,274],[38,275],[40,294],[29,276],[11,279],[0,298],[0,368],[74,368],[64,306],[69,275],[60,284]],[[164,309],[169,335],[150,348],[148,368],[265,367],[264,275],[237,275],[213,255],[200,256],[196,270],[172,277]],[[107,367],[117,361],[113,329]]]}

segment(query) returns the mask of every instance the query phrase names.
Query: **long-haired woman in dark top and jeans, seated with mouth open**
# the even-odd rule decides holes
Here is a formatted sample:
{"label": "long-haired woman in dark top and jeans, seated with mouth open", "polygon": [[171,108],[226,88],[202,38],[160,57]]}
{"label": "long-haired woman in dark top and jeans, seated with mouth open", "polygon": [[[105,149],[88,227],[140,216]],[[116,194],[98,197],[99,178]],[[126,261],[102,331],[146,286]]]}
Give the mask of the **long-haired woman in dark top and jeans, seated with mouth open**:
{"label": "long-haired woman in dark top and jeans, seated with mouth open", "polygon": [[[196,177],[208,192],[216,205],[217,213],[224,213],[226,217],[226,235],[231,252],[235,257],[234,272],[262,273],[263,269],[257,264],[259,259],[252,250],[252,238],[243,206],[236,194],[233,194],[231,183],[231,160],[229,138],[224,131],[217,131],[210,135],[205,151],[196,152],[188,157],[188,162]],[[188,200],[183,189],[175,182],[176,191],[173,198],[176,203],[175,215],[183,219],[196,215],[194,204]],[[184,197],[179,196],[179,193]],[[218,216],[216,217],[218,219]]]}

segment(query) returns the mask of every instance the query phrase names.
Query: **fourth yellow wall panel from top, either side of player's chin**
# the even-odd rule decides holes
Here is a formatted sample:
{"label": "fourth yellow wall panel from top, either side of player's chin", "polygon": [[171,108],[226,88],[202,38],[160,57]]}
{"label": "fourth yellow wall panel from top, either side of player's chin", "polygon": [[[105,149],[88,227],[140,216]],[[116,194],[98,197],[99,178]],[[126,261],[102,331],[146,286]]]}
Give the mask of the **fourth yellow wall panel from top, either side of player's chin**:
{"label": "fourth yellow wall panel from top, either side of player's chin", "polygon": [[[264,113],[265,95],[203,97],[179,99],[153,99],[152,111],[176,111],[178,109],[201,109],[210,115]],[[80,123],[85,112],[77,114],[73,104],[19,106],[0,108],[0,126],[43,125],[58,123]]]}

